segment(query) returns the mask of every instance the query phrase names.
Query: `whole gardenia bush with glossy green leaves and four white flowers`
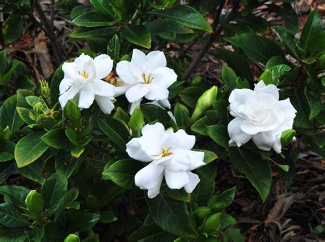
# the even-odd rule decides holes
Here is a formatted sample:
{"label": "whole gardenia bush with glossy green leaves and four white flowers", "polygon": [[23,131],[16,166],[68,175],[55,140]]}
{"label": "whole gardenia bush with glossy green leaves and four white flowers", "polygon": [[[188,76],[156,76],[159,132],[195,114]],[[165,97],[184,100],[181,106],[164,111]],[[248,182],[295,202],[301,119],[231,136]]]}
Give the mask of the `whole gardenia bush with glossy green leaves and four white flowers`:
{"label": "whole gardenia bush with glossy green leaves and four white flowers", "polygon": [[[42,12],[15,2],[0,3],[6,28],[22,8]],[[293,179],[297,143],[324,156],[325,35],[313,10],[297,39],[289,1],[225,2],[58,1],[76,25],[69,40],[89,48],[62,63],[40,14],[60,66],[37,84],[0,52],[0,241],[245,240],[217,165],[230,162],[265,202],[272,169]],[[253,14],[264,4],[292,21],[270,29]],[[6,31],[7,45],[21,34]],[[222,60],[222,83],[194,75],[206,55]]]}

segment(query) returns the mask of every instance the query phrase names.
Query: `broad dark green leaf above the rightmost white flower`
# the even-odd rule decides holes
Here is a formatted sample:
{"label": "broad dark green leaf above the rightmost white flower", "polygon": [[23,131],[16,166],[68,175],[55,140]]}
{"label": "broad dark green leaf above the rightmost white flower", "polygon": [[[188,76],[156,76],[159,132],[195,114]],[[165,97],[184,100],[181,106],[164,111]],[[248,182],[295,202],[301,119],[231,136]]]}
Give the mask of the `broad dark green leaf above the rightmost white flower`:
{"label": "broad dark green leaf above the rightmost white flower", "polygon": [[239,34],[226,40],[243,49],[248,58],[254,62],[265,64],[272,56],[283,56],[281,48],[273,40],[256,34]]}

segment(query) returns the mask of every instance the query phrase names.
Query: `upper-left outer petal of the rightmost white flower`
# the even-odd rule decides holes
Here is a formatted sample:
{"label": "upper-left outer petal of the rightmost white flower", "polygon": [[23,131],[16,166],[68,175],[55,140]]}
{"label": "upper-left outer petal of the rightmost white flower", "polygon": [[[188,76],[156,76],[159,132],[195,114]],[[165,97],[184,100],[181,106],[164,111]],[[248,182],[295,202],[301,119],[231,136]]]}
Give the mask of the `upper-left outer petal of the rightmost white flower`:
{"label": "upper-left outer petal of the rightmost white flower", "polygon": [[254,92],[250,89],[234,89],[230,93],[229,102],[230,102],[230,114],[233,117],[237,117],[240,114],[237,112],[238,107],[244,105],[248,97],[254,95]]}

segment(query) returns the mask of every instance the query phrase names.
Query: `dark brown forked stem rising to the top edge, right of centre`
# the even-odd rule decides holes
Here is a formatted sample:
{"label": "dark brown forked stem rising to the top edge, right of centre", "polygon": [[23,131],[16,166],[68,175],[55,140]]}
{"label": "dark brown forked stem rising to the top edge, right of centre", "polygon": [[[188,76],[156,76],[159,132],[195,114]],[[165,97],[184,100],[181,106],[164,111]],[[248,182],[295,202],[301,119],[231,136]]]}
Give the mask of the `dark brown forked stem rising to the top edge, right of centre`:
{"label": "dark brown forked stem rising to the top edge, right of centre", "polygon": [[[221,11],[224,8],[225,2],[226,2],[225,0],[223,0],[221,2],[217,12],[215,13],[215,20],[213,21],[213,33],[210,34],[210,37],[209,37],[208,42],[206,43],[206,45],[197,54],[197,57],[193,60],[193,62],[191,62],[189,67],[186,69],[184,75],[182,76],[183,80],[186,80],[186,79],[188,79],[190,77],[191,73],[193,73],[193,71],[195,70],[197,64],[202,60],[202,58],[208,52],[208,49],[210,49],[210,46],[213,44],[213,42],[215,42],[215,39],[217,38],[217,36],[219,36],[219,34],[221,34],[221,32],[223,30],[223,27],[222,26],[218,27],[218,25],[219,25]],[[231,10],[228,18],[226,19],[226,22],[229,22],[229,21],[232,20],[232,18],[235,15],[234,13],[237,11],[238,6],[239,6],[239,1],[238,0],[234,1],[234,4],[232,6],[232,10]]]}

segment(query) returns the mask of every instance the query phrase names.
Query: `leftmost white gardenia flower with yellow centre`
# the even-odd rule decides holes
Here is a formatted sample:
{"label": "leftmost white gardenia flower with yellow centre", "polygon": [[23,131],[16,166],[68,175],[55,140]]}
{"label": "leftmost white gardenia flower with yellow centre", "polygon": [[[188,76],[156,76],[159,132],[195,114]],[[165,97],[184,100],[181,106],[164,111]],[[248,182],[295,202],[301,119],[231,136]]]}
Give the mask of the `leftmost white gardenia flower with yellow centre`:
{"label": "leftmost white gardenia flower with yellow centre", "polygon": [[100,55],[95,59],[82,53],[74,62],[64,62],[64,78],[60,83],[59,101],[64,108],[69,99],[75,99],[79,108],[89,108],[96,100],[105,114],[114,108],[115,86],[102,81],[112,71],[110,56]]}

